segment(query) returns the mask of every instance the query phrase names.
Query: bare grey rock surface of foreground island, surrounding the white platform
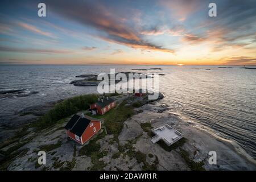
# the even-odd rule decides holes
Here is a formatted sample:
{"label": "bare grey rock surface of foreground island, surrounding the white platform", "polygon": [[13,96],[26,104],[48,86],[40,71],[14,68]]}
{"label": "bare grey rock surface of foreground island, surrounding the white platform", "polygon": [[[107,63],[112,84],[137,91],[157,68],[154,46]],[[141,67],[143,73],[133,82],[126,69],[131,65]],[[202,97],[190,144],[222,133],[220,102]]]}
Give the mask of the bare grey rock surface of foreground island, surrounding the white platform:
{"label": "bare grey rock surface of foreground island, surrounding the white platform", "polygon": [[[84,146],[67,140],[64,126],[69,118],[51,128],[36,131],[27,129],[27,134],[14,143],[1,148],[1,154],[18,152],[9,163],[7,170],[255,170],[255,160],[238,154],[237,146],[228,140],[218,138],[186,122],[171,112],[161,100],[148,101],[122,94],[114,96],[118,103],[127,101],[127,106],[140,103],[134,108],[135,114],[123,122],[118,135],[102,133]],[[38,107],[39,109],[39,107]],[[40,110],[40,109],[39,109]],[[32,111],[30,109],[24,110]],[[84,111],[81,111],[84,112]],[[81,113],[80,112],[80,113]],[[20,113],[20,114],[21,114]],[[37,111],[35,111],[37,113]],[[39,112],[39,115],[42,114]],[[168,123],[184,135],[184,141],[171,148],[160,143],[152,144],[150,130],[162,123]],[[104,118],[102,118],[104,126]],[[22,143],[22,145],[20,145]],[[87,145],[89,145],[87,147]],[[84,152],[95,145],[97,151]],[[47,164],[37,164],[39,150],[47,152]],[[217,165],[208,163],[208,152],[217,152]],[[13,154],[13,153],[11,153]]]}

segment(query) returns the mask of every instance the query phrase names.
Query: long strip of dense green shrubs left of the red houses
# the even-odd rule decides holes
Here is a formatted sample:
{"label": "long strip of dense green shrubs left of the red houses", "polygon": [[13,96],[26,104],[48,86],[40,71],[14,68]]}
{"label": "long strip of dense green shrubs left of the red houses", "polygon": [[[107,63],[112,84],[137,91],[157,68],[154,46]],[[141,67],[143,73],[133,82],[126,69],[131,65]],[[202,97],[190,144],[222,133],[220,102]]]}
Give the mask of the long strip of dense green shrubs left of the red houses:
{"label": "long strip of dense green shrubs left of the red houses", "polygon": [[88,94],[84,96],[76,96],[56,104],[38,121],[32,123],[31,127],[38,127],[38,129],[45,129],[54,125],[60,119],[66,118],[69,115],[77,113],[79,110],[89,109],[90,104],[97,101],[96,94]]}

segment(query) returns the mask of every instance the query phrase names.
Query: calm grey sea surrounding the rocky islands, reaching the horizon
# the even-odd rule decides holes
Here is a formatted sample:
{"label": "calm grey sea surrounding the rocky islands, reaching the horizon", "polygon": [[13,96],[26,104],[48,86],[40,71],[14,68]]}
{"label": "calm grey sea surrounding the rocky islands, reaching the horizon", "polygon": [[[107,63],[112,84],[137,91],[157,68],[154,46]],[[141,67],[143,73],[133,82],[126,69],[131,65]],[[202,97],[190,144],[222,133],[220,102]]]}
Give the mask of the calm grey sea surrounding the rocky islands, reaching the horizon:
{"label": "calm grey sea surrounding the rocky islands, reaching the horizon", "polygon": [[[80,94],[96,93],[96,86],[74,86],[76,75],[131,71],[164,73],[160,92],[165,104],[182,117],[235,140],[256,158],[256,70],[220,69],[218,66],[138,65],[0,65],[0,92],[26,89],[22,94],[0,98],[0,119],[27,106],[43,104]],[[210,70],[207,70],[209,68]]]}

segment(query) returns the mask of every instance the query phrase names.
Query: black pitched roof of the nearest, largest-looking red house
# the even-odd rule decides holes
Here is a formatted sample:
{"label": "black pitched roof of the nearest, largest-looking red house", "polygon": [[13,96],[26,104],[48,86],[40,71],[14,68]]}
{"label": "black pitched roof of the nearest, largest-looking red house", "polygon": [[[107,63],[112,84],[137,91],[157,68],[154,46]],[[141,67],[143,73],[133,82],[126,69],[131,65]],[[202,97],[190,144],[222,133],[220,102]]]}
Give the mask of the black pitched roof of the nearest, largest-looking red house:
{"label": "black pitched roof of the nearest, largest-looking red house", "polygon": [[[92,121],[93,118],[90,118],[85,115],[84,118],[81,118],[80,115],[73,115],[73,117],[69,120],[67,125],[64,127],[66,130],[71,131],[73,134],[81,137],[82,133],[84,133],[84,130],[89,125],[90,121]],[[97,119],[96,119],[97,121]]]}

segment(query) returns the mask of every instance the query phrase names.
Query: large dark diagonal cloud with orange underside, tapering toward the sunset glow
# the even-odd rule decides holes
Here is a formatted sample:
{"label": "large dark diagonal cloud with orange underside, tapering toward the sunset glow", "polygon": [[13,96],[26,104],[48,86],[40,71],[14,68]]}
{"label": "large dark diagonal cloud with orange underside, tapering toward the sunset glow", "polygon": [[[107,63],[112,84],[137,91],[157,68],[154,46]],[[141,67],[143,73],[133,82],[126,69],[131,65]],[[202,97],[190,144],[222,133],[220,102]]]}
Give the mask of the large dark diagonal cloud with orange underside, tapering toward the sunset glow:
{"label": "large dark diagonal cloud with orange underside, tapering toward the sunset glow", "polygon": [[63,16],[84,26],[90,26],[98,30],[98,38],[108,42],[122,44],[132,48],[144,48],[155,51],[174,52],[143,40],[140,34],[118,15],[113,14],[106,6],[100,3],[88,1],[47,1],[52,7],[52,12]]}

